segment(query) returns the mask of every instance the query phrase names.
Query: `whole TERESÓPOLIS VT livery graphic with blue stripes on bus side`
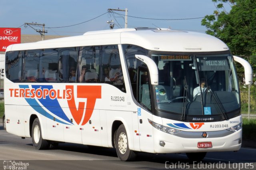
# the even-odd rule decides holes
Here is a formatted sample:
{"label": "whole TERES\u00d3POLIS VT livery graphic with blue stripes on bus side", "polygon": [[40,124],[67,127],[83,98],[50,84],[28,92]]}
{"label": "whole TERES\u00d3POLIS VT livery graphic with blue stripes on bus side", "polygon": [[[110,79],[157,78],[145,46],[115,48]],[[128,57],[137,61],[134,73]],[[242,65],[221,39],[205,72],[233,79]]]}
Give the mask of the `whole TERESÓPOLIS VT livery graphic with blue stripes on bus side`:
{"label": "whole TERES\u00d3POLIS VT livery graphic with blue stripes on bus side", "polygon": [[[52,119],[53,116],[48,113],[50,111],[52,114],[62,118],[55,119],[57,122],[64,124],[73,124],[70,119],[66,116],[58,99],[65,99],[68,102],[68,107],[74,121],[79,125],[85,125],[94,110],[96,99],[101,99],[101,86],[99,85],[77,85],[76,92],[74,92],[74,85],[66,85],[66,89],[54,89],[52,85],[19,85],[19,89],[9,89],[10,97],[20,97],[24,98],[27,103],[38,113]],[[87,99],[85,102],[79,102],[76,105],[76,100],[74,94],[76,93],[76,98]],[[43,105],[43,107],[38,107]],[[85,107],[86,105],[86,107]],[[85,115],[84,115],[85,109]],[[84,115],[84,119],[82,117]],[[66,123],[67,122],[67,123]]]}

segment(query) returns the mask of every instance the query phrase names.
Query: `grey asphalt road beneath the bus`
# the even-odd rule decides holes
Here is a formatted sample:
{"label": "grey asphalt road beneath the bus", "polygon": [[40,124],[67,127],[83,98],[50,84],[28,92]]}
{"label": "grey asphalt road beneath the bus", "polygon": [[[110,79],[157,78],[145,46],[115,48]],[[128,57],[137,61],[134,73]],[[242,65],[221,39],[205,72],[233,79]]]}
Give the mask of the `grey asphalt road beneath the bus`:
{"label": "grey asphalt road beneath the bus", "polygon": [[136,161],[122,162],[113,148],[63,143],[54,150],[35,150],[32,139],[9,134],[0,125],[0,170],[162,170],[162,169],[256,169],[256,149],[238,152],[211,152],[201,162],[186,154],[139,153]]}

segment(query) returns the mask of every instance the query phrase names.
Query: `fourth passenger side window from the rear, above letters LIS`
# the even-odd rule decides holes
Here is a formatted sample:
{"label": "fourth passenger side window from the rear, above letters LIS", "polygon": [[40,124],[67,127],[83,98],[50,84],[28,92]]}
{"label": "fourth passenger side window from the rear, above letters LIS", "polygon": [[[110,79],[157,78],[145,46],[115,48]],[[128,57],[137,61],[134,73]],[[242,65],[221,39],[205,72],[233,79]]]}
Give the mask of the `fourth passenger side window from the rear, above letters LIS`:
{"label": "fourth passenger side window from the rear, above letters LIS", "polygon": [[76,48],[63,48],[58,53],[58,76],[59,82],[75,83],[77,68],[77,50]]}

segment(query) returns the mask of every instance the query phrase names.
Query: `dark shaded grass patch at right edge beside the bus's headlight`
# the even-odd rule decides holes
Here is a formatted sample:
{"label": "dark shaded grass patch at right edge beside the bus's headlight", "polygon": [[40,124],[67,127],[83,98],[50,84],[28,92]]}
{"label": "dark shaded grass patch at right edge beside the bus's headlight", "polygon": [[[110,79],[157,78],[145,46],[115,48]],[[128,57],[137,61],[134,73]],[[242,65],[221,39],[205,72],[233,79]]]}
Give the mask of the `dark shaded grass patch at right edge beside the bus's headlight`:
{"label": "dark shaded grass patch at right edge beside the bus's headlight", "polygon": [[243,118],[243,139],[256,140],[256,119]]}

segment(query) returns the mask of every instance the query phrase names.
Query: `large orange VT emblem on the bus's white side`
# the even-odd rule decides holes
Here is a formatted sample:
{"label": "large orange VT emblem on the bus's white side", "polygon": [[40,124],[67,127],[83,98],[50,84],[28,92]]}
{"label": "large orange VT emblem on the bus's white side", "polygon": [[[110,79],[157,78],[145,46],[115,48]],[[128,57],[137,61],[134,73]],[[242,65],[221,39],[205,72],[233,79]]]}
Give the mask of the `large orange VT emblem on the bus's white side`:
{"label": "large orange VT emblem on the bus's white side", "polygon": [[[82,125],[85,125],[89,121],[90,117],[92,116],[96,99],[101,99],[101,86],[98,86],[98,85],[96,86],[78,85],[77,86],[77,91],[76,91],[77,98],[87,99],[86,108],[85,108],[85,102],[79,102],[78,106],[76,106],[75,98],[74,98],[74,86],[66,85],[66,90],[68,89],[71,90],[69,95],[72,96],[71,99],[68,100],[68,107],[70,109],[70,112],[78,125],[80,124],[81,121],[82,121]],[[85,110],[84,119],[82,120],[84,109],[86,110]]]}

